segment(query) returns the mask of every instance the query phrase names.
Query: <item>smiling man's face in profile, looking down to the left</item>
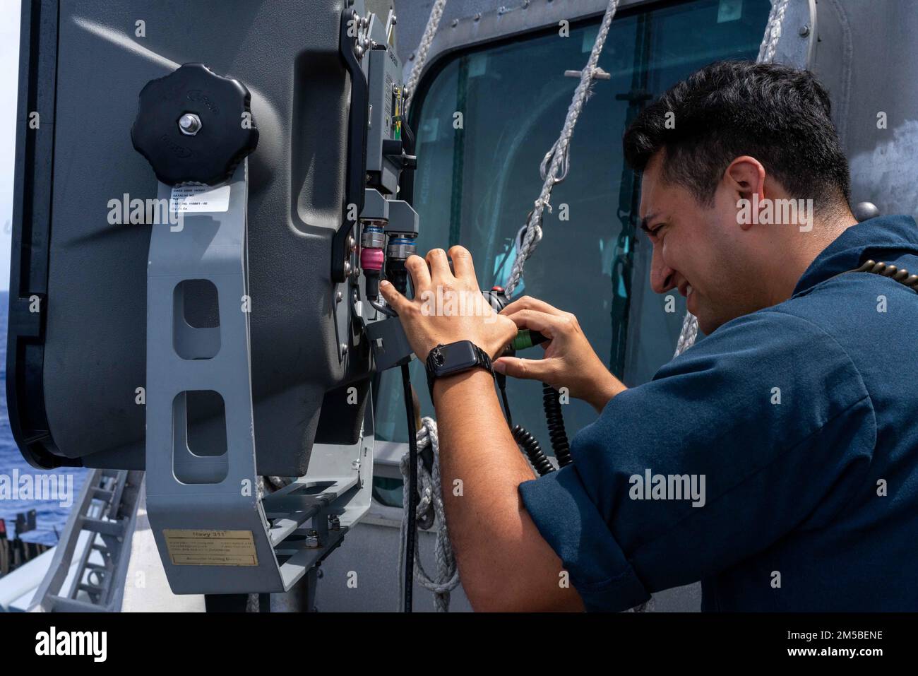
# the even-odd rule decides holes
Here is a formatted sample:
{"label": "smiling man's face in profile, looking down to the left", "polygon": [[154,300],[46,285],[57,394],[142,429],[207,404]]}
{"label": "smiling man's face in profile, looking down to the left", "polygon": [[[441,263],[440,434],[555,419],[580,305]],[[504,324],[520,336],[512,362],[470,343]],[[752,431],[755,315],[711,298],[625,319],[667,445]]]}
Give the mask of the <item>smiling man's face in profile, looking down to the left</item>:
{"label": "smiling man's face in profile, looking down to the left", "polygon": [[651,287],[660,294],[677,289],[700,330],[711,333],[767,305],[745,263],[749,238],[737,223],[738,196],[722,181],[711,207],[700,204],[662,178],[662,154],[647,164],[641,186],[640,215],[654,247]]}

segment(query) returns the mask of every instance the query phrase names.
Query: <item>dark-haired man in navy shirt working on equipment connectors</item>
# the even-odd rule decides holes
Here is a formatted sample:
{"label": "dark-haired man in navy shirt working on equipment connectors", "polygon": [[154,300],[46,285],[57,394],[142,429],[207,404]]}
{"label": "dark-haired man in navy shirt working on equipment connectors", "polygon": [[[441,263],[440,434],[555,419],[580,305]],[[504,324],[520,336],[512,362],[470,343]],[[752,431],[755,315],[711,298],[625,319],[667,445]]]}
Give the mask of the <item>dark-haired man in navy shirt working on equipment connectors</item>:
{"label": "dark-haired man in navy shirt working on equipment connectors", "polygon": [[499,355],[534,329],[544,358],[495,369],[599,412],[574,463],[533,479],[491,374],[434,380],[473,607],[621,611],[701,580],[704,610],[918,610],[918,294],[842,274],[868,258],[918,271],[914,220],[856,222],[829,98],[807,72],[711,64],[623,142],[643,172],[651,283],[686,296],[707,334],[651,382],[625,388],[577,318],[537,299],[496,318],[422,311],[436,287],[476,293],[462,247],[454,274],[442,250],[409,259],[414,300],[383,287],[421,359],[464,340]]}

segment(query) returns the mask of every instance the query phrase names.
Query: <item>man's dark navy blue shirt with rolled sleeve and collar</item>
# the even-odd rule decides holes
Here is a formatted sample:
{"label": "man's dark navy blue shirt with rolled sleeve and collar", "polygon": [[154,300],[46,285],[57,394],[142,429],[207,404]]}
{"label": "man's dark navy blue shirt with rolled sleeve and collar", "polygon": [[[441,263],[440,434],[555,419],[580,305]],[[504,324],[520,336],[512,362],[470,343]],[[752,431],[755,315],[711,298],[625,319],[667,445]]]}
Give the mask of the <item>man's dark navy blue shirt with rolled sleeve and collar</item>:
{"label": "man's dark navy blue shirt with rolled sleeve and collar", "polygon": [[[918,272],[915,221],[847,229],[792,298],[614,397],[572,465],[521,483],[588,610],[698,580],[702,610],[918,610],[918,294],[836,276],[868,258]],[[677,499],[701,477],[703,505]]]}

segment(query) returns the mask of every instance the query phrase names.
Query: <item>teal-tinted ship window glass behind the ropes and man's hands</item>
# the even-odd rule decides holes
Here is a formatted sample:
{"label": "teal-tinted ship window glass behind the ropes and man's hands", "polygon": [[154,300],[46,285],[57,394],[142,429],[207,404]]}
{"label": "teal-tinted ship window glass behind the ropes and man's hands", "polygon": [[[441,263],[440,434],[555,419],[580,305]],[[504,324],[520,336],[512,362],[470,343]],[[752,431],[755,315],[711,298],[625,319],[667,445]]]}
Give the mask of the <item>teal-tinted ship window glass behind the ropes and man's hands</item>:
{"label": "teal-tinted ship window glass behind the ropes and man's hands", "polygon": [[[640,186],[621,153],[626,120],[643,93],[660,96],[713,61],[755,59],[768,10],[768,0],[696,0],[622,13],[612,22],[599,59],[611,78],[594,84],[571,144],[570,172],[554,188],[543,240],[517,292],[576,314],[600,358],[627,385],[646,382],[672,358],[685,302],[671,294],[675,305],[667,312],[666,296],[649,287],[650,244],[633,227]],[[572,24],[566,38],[553,29],[459,52],[425,76],[412,111],[420,254],[461,243],[481,286],[503,286],[514,239],[542,187],[539,163],[578,84],[565,70],[583,67],[598,29],[596,18]],[[541,348],[531,352],[541,355]],[[422,413],[432,415],[417,360],[411,378]],[[514,423],[548,446],[541,384],[510,378],[508,389]],[[378,438],[407,440],[398,369],[382,375],[375,411]],[[564,413],[570,438],[596,418],[576,400]]]}

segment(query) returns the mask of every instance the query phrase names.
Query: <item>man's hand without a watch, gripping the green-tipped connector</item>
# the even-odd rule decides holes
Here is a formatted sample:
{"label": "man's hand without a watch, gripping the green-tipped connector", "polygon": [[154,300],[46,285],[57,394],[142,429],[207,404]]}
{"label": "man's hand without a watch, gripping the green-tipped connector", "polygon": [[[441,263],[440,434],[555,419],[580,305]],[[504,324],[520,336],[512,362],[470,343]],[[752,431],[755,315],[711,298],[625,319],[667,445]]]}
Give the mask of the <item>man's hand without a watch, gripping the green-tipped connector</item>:
{"label": "man's hand without a watch, gripping the green-tipped connector", "polygon": [[555,389],[567,388],[572,397],[588,401],[597,412],[601,412],[612,397],[627,389],[590,347],[577,317],[570,312],[523,296],[500,314],[509,317],[521,329],[541,332],[549,342],[543,344],[543,359],[499,358],[494,362],[494,370],[499,373],[541,380]]}

